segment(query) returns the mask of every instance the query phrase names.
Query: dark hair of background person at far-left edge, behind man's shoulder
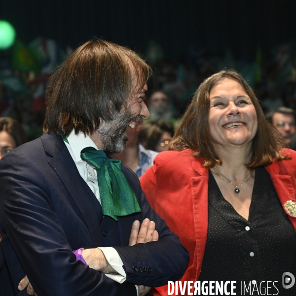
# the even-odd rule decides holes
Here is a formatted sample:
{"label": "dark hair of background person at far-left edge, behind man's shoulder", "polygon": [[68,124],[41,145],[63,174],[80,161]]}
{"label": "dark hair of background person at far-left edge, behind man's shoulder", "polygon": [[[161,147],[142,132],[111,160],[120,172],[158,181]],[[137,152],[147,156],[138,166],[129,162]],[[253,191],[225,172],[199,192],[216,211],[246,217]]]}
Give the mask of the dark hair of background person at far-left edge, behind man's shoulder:
{"label": "dark hair of background person at far-left edge, behind man's shoulder", "polygon": [[10,117],[0,117],[0,132],[2,131],[8,133],[14,139],[16,147],[28,142],[22,125]]}

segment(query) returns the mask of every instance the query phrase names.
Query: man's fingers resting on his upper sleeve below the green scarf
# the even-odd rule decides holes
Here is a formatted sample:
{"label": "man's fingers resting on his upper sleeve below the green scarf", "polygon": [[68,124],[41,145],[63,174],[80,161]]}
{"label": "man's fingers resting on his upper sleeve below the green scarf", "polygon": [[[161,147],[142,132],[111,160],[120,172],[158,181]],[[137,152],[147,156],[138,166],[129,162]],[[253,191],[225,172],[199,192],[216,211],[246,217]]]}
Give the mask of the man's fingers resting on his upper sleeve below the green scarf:
{"label": "man's fingers resting on his upper sleeve below the green scarf", "polygon": [[129,246],[134,246],[139,243],[155,242],[158,240],[158,232],[155,230],[155,223],[150,221],[148,218],[144,219],[140,228],[140,222],[138,220],[134,221],[130,239]]}

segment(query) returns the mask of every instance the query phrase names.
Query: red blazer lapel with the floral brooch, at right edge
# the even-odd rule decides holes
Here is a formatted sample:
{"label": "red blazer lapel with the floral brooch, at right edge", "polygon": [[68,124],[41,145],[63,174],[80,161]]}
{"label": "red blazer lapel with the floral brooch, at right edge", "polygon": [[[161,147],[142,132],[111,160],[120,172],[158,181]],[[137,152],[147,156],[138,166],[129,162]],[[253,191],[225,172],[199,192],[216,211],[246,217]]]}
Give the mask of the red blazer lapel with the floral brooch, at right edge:
{"label": "red blazer lapel with the floral brooch, at right edge", "polygon": [[[270,178],[279,196],[281,204],[284,206],[284,204],[288,200],[296,202],[291,176],[280,174],[280,166],[278,162],[272,163],[266,166],[265,168],[267,172],[270,174]],[[293,218],[291,216],[288,217],[296,230],[296,218]]]}

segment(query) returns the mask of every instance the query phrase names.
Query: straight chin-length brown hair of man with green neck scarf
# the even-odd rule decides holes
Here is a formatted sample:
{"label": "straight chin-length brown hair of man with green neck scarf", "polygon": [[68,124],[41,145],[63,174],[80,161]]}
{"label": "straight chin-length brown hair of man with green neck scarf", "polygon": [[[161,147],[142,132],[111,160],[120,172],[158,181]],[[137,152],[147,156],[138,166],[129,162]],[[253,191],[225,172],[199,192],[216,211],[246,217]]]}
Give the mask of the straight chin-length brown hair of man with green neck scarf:
{"label": "straight chin-length brown hair of man with green neck scarf", "polygon": [[150,75],[146,62],[126,47],[102,39],[84,43],[48,80],[43,132],[92,134],[100,118],[110,121],[127,107]]}

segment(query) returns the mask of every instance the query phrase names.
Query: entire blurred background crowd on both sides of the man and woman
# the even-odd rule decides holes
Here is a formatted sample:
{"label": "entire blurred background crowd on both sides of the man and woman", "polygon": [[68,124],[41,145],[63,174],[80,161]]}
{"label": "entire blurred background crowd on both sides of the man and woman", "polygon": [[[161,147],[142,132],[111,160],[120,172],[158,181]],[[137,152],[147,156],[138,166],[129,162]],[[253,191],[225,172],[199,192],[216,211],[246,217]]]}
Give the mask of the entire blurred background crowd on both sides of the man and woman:
{"label": "entire blurred background crowd on both sides of the man and woman", "polygon": [[[192,46],[179,57],[178,62],[173,62],[164,58],[159,44],[150,42],[146,57],[153,68],[153,75],[148,82],[150,94],[147,105],[151,114],[149,120],[154,125],[150,124],[147,128],[153,129],[157,136],[152,137],[153,145],[148,145],[150,134],[144,125],[141,143],[145,148],[155,151],[158,151],[156,146],[159,145],[163,145],[160,148],[168,147],[167,138],[169,134],[173,135],[198,85],[223,68],[235,69],[243,75],[254,89],[265,114],[281,107],[295,110],[295,52],[292,42],[277,46],[267,53],[262,53],[258,48],[254,60],[248,61],[234,57],[230,50],[223,54],[209,54],[205,49]],[[29,45],[16,40],[9,53],[0,55],[0,117],[19,121],[29,141],[42,134],[46,80],[69,53],[70,48],[62,48],[55,40],[37,38]],[[272,121],[271,117],[269,119]],[[158,120],[168,124],[164,136],[159,136],[159,126],[155,127]],[[291,129],[291,134],[294,134],[291,120],[277,121],[281,121],[282,125],[278,127],[285,130],[289,137]],[[286,122],[290,125],[285,125]],[[163,122],[159,124],[164,126]]]}

